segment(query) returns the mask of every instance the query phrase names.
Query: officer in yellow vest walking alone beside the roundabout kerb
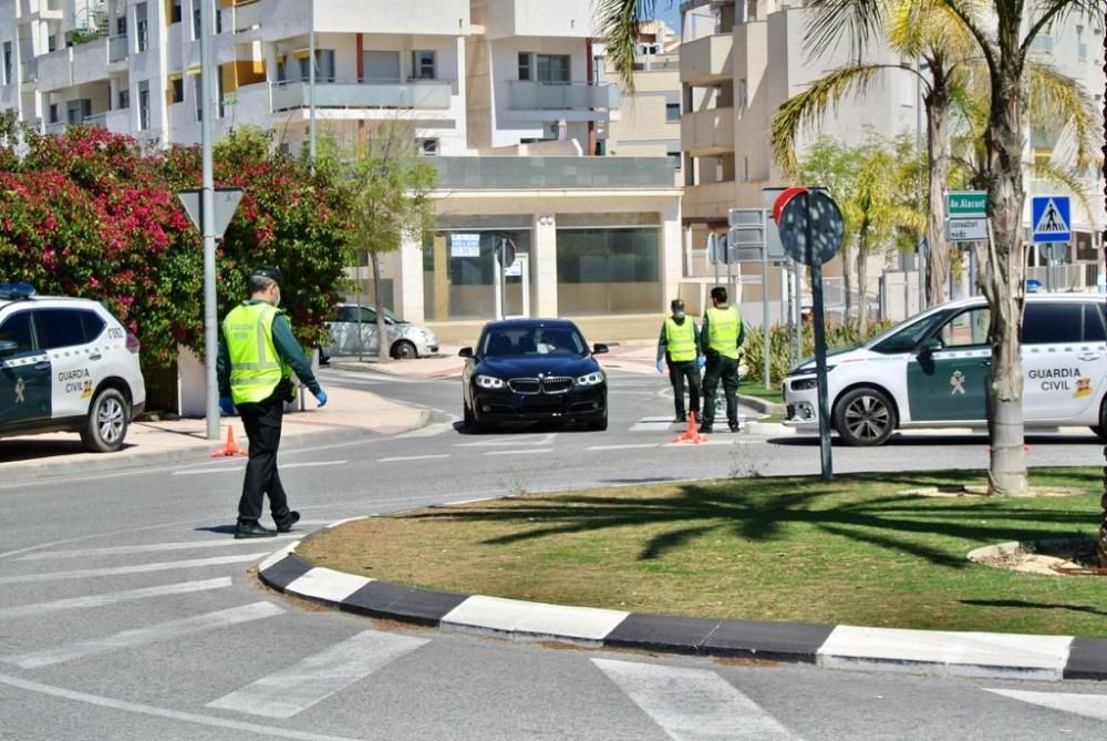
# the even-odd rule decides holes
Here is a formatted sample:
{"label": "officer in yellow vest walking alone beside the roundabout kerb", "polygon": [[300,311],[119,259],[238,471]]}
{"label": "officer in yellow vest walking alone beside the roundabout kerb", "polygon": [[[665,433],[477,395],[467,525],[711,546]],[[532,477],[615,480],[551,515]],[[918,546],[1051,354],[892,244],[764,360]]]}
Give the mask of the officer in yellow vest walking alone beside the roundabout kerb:
{"label": "officer in yellow vest walking alone beside the roundabout kerb", "polygon": [[[225,414],[238,410],[250,440],[250,459],[238,502],[236,538],[287,533],[300,519],[300,513],[288,508],[288,496],[277,473],[284,402],[296,397],[292,372],[311,390],[320,406],[327,403],[327,392],[311,372],[311,363],[292,336],[288,318],[277,308],[284,282],[281,271],[259,268],[247,282],[250,300],[231,309],[224,319],[216,363],[219,408]],[[258,522],[266,494],[276,531]]]}

